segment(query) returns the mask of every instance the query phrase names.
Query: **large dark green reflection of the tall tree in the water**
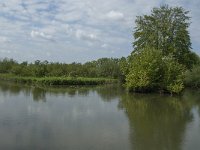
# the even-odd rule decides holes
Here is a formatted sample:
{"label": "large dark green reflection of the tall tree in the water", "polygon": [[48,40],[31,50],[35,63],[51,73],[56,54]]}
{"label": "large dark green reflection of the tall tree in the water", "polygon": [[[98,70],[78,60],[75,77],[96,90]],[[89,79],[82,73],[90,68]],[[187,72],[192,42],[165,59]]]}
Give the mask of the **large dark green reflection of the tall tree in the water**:
{"label": "large dark green reflection of the tall tree in the water", "polygon": [[121,106],[130,122],[130,141],[137,150],[179,150],[192,120],[191,103],[179,97],[124,95]]}

